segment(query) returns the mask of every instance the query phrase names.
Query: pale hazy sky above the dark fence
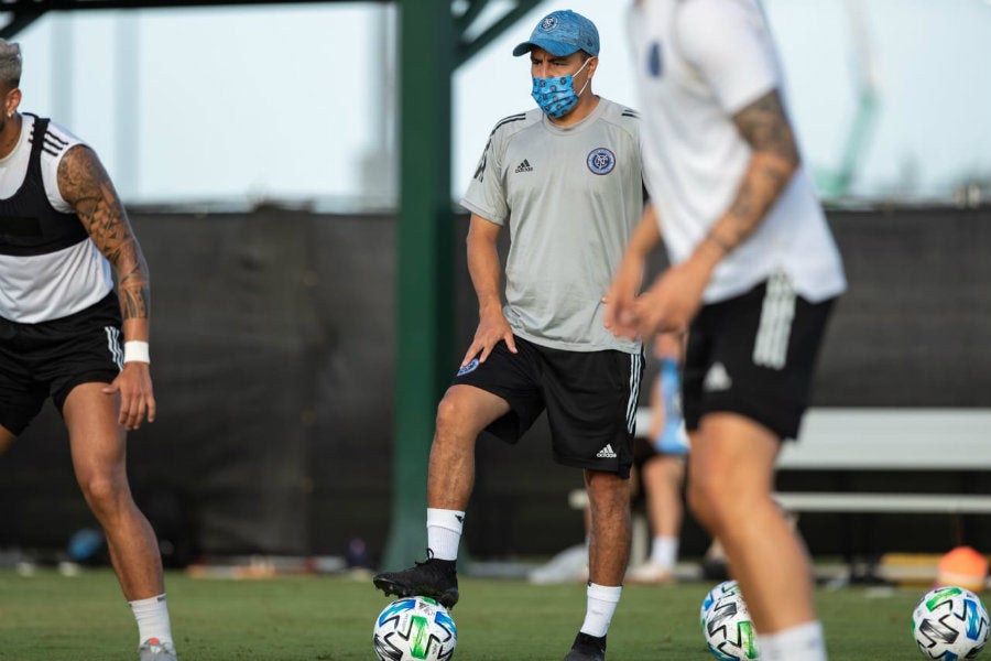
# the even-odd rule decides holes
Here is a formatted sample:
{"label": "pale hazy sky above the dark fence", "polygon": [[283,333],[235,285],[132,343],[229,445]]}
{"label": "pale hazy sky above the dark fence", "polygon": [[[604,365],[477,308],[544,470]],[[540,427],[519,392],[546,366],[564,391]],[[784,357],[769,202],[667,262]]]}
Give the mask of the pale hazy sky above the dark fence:
{"label": "pale hazy sky above the dark fence", "polygon": [[[991,181],[991,76],[982,71],[991,2],[763,3],[814,172],[839,166],[869,68],[879,105],[860,141],[856,194],[948,198],[966,178]],[[862,19],[861,41],[849,7]],[[560,8],[599,28],[596,91],[636,107],[627,2],[544,2],[455,74],[454,197],[496,121],[533,107],[527,61],[510,51]],[[381,204],[394,163],[382,161],[394,142],[385,121],[394,74],[382,65],[390,47],[381,30],[393,11],[344,3],[50,14],[17,37],[22,109],[89,141],[132,202]]]}

